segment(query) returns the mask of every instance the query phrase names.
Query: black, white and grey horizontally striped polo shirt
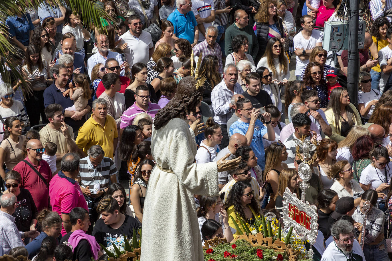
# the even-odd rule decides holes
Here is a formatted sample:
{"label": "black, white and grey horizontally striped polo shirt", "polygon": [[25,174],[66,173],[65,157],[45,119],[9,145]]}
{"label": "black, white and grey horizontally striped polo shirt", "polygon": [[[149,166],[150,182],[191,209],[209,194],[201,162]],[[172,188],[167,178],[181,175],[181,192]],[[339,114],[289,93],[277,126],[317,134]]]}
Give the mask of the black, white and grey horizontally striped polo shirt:
{"label": "black, white and grey horizontally striped polo shirt", "polygon": [[118,170],[113,160],[103,157],[101,163],[94,167],[89,156],[80,159],[80,181],[82,187],[90,186],[93,189],[94,184],[100,184],[100,190],[109,187],[109,176],[117,175]]}

